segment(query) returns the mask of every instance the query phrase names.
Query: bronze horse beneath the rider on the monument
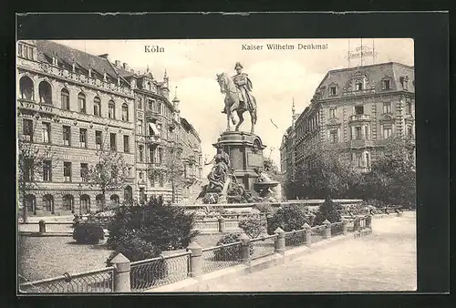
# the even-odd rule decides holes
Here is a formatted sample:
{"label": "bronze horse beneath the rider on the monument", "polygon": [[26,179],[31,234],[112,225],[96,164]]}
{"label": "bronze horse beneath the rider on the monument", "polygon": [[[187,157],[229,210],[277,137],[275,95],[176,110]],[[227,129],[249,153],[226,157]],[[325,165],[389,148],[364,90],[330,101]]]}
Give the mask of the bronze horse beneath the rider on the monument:
{"label": "bronze horse beneath the rider on the monument", "polygon": [[[239,117],[239,122],[236,125],[235,131],[239,131],[239,127],[244,122],[244,112],[249,111],[250,118],[252,121],[252,128],[250,133],[254,134],[254,126],[256,124],[256,100],[254,96],[250,93],[247,95],[247,102],[244,102],[244,106],[240,104],[238,90],[234,85],[233,79],[229,77],[226,73],[217,74],[217,82],[220,86],[220,92],[225,95],[225,112],[226,112],[226,131],[231,130],[230,119],[233,122],[233,125],[236,125],[236,120],[233,117],[233,111],[236,111],[237,116]],[[250,101],[252,100],[252,101]]]}

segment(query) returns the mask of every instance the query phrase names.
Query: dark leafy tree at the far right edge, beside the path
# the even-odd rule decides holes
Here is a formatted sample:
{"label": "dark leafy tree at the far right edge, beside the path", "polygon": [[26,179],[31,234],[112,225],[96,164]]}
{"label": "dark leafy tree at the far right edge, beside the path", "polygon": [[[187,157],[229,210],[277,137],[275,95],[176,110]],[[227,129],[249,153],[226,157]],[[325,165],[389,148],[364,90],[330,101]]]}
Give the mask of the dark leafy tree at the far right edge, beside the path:
{"label": "dark leafy tree at the far right edge, beside the path", "polygon": [[416,205],[416,169],[411,139],[394,135],[365,176],[366,198],[387,204]]}

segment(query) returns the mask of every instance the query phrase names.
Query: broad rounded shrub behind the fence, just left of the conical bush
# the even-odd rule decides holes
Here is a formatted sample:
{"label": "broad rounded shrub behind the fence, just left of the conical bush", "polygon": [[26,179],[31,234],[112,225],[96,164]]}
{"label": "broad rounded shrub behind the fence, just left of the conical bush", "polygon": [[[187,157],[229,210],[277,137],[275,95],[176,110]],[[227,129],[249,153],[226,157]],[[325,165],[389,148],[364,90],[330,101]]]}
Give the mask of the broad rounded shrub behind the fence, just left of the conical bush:
{"label": "broad rounded shrub behind the fence, just left of the conical bush", "polygon": [[293,204],[275,212],[274,216],[267,222],[267,233],[274,234],[278,227],[285,232],[301,230],[305,223],[309,223],[306,213],[299,206]]}

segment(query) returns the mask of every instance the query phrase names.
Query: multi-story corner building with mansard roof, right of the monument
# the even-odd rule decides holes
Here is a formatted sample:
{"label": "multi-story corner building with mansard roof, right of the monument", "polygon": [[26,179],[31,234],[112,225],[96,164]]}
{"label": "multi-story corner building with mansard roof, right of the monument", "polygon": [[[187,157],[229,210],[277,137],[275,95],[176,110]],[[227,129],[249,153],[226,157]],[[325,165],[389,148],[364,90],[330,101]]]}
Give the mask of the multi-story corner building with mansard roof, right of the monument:
{"label": "multi-story corner building with mansard roof, right of the monument", "polygon": [[391,135],[414,140],[414,92],[414,67],[395,62],[329,71],[296,119],[295,165],[313,145],[329,142],[368,171]]}

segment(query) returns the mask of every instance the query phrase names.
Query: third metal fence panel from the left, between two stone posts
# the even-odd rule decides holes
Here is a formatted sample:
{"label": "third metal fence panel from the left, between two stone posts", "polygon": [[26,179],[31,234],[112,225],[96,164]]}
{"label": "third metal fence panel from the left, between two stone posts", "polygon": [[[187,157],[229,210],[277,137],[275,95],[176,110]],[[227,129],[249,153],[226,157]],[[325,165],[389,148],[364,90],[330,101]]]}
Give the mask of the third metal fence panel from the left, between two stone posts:
{"label": "third metal fence panel from the left, between two stone posts", "polygon": [[222,270],[241,263],[241,241],[202,249],[202,272]]}

